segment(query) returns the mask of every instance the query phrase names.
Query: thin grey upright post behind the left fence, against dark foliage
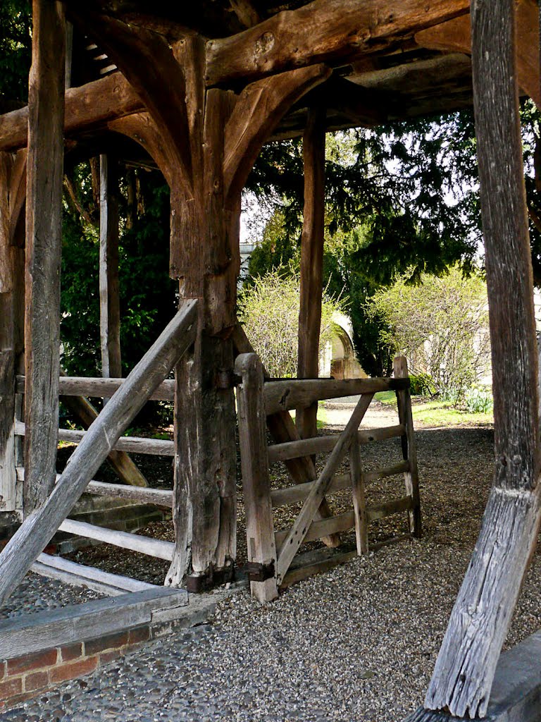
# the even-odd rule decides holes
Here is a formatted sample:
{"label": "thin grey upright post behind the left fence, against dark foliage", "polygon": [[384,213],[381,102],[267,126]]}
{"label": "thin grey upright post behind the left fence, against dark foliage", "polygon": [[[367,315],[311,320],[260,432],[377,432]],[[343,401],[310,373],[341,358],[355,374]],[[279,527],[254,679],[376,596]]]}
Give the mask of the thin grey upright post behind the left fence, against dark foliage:
{"label": "thin grey upright post behind the left fence, against dark foliage", "polygon": [[121,378],[118,161],[110,155],[100,155],[100,339],[102,376]]}

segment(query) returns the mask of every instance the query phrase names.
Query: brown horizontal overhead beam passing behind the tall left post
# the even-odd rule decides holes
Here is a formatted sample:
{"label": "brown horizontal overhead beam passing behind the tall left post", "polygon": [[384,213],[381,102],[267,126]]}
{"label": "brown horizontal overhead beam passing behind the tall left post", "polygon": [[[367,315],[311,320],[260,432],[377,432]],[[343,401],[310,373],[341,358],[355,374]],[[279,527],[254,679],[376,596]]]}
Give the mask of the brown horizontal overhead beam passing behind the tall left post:
{"label": "brown horizontal overhead beam passing behind the tall left post", "polygon": [[[81,87],[66,90],[64,132],[92,129],[113,118],[137,113],[144,108],[141,98],[126,78],[114,73]],[[25,147],[28,136],[28,106],[0,116],[0,150]]]}

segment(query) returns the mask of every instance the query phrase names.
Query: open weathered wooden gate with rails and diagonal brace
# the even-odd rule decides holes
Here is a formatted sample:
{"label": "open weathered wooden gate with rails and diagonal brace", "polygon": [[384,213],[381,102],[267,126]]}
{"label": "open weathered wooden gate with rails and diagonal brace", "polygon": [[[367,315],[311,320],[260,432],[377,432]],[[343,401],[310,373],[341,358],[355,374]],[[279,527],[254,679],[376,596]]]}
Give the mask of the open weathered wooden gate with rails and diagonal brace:
{"label": "open weathered wooden gate with rails and diagonal brace", "polygon": [[[417,457],[410,403],[410,380],[405,358],[395,359],[395,378],[364,379],[288,379],[266,380],[263,366],[254,353],[237,357],[235,372],[242,378],[237,387],[239,438],[242,464],[247,534],[247,571],[252,595],[260,601],[278,596],[278,588],[317,571],[368,552],[368,525],[399,512],[408,513],[409,533],[421,536],[421,505],[419,499]],[[359,425],[377,391],[395,391],[398,421],[395,426],[359,431]],[[356,396],[359,401],[346,428],[340,435],[267,443],[267,427],[272,431],[276,417],[290,419],[290,409],[304,409],[315,401],[340,396]],[[403,460],[394,466],[366,473],[361,467],[360,445],[399,437]],[[276,435],[275,435],[276,438]],[[316,478],[283,489],[271,488],[269,465],[274,461],[302,459],[312,463],[310,455],[329,453],[324,469]],[[349,474],[337,474],[338,467],[349,453]],[[366,483],[377,478],[403,474],[405,496],[374,506],[365,502]],[[293,474],[292,474],[293,475]],[[294,479],[295,480],[295,479]],[[352,509],[330,516],[325,495],[350,487]],[[302,509],[293,525],[275,531],[273,508],[302,502]],[[323,505],[323,507],[322,507]],[[326,513],[322,513],[322,509]],[[319,560],[311,560],[295,570],[291,567],[303,542],[327,537],[327,544],[340,531],[355,529],[356,551],[337,553],[323,550]],[[329,540],[330,538],[330,540]]]}

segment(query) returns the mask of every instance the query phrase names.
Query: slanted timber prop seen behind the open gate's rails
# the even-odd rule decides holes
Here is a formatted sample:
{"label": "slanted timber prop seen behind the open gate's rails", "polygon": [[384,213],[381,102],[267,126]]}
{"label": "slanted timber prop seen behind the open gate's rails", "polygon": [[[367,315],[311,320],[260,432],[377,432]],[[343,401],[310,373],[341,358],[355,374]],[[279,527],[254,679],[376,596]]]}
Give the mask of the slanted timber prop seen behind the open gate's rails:
{"label": "slanted timber prop seen behind the open gate's rails", "polygon": [[[247,339],[244,329],[239,323],[234,326],[232,339],[234,346],[237,349],[237,353],[255,353],[252,344],[250,344],[250,341],[249,339]],[[265,378],[267,378],[268,376],[265,367],[263,367],[263,375],[265,376]],[[291,414],[289,414],[289,412],[287,411],[278,412],[277,414],[272,414],[271,416],[268,416],[267,427],[268,432],[271,434],[271,437],[278,444],[296,442],[300,439],[299,432],[296,429],[293,419],[291,419]],[[270,453],[271,448],[272,447],[268,448],[268,453]],[[291,458],[284,461],[286,464],[286,469],[291,475],[291,479],[293,479],[296,484],[302,484],[304,482],[309,482],[317,478],[314,461],[312,461],[312,458],[310,456]],[[333,513],[329,508],[327,500],[323,499],[322,503],[320,504],[320,508],[317,510],[315,519],[325,519],[330,516],[333,516]],[[340,535],[332,534],[331,536],[326,536],[322,539],[322,542],[327,547],[338,547],[340,544]]]}

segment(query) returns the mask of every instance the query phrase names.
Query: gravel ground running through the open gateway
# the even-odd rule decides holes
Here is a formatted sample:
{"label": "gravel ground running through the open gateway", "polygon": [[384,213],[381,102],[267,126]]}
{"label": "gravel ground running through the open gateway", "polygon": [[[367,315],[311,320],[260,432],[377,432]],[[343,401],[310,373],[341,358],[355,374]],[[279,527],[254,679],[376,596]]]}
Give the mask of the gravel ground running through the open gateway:
{"label": "gravel ground running through the open gateway", "polygon": [[[209,625],[147,645],[1,719],[400,722],[423,700],[475,544],[492,444],[487,429],[418,432],[423,539],[336,567],[268,606],[240,593]],[[364,465],[393,463],[398,453],[395,440],[366,446]],[[385,479],[370,487],[368,502],[402,491],[400,479]],[[334,509],[342,503],[331,500]],[[372,543],[400,523],[371,525]],[[540,622],[536,554],[506,644]]]}

